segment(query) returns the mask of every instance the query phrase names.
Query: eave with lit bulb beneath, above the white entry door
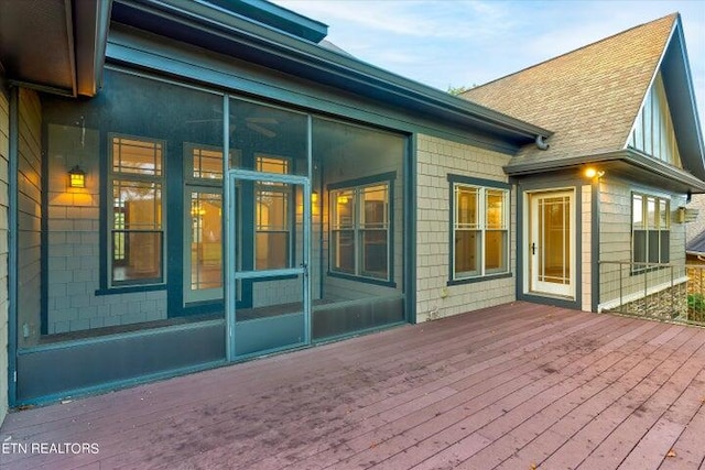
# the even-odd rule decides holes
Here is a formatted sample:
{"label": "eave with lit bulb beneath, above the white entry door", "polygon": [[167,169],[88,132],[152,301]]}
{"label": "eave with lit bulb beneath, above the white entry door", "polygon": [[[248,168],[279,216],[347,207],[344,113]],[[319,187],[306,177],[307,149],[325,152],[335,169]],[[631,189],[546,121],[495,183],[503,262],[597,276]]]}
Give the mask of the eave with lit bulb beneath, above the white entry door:
{"label": "eave with lit bulb beneath, above the white entry door", "polygon": [[596,166],[610,176],[638,181],[674,193],[705,193],[705,182],[693,174],[633,149],[531,163],[513,162],[505,166],[505,172],[509,176],[521,177],[552,171],[581,170],[587,165]]}

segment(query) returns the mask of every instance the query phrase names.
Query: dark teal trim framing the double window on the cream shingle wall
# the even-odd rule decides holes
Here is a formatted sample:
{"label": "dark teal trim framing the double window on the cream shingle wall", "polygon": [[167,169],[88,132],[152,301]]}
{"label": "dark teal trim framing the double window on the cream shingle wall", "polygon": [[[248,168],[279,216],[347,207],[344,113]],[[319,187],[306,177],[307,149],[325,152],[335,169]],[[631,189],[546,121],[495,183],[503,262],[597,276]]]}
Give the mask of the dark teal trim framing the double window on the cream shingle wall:
{"label": "dark teal trim framing the double window on the cream shingle wall", "polygon": [[[477,275],[473,277],[455,277],[455,273],[453,272],[453,265],[455,262],[455,185],[470,185],[470,186],[481,186],[489,188],[499,188],[506,189],[509,192],[508,201],[511,206],[511,185],[505,182],[498,182],[495,179],[485,179],[485,178],[476,178],[473,176],[466,175],[457,175],[448,173],[448,210],[451,211],[451,217],[448,218],[448,281],[446,285],[460,285],[460,284],[473,284],[482,281],[492,281],[502,277],[511,277],[513,274],[511,272],[511,255],[510,252],[507,253],[507,271],[502,273],[490,273],[485,275]],[[511,244],[511,207],[509,208],[509,227],[507,228],[507,243]],[[508,247],[511,251],[511,247]]]}

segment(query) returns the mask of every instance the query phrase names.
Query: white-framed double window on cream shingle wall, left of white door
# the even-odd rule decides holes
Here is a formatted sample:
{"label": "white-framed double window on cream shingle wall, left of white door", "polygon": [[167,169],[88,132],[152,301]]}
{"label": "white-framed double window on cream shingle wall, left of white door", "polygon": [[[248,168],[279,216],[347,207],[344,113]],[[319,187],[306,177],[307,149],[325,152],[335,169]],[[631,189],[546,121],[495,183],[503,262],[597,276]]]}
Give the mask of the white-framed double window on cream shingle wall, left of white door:
{"label": "white-framed double window on cream shingle wall, left of white door", "polygon": [[[509,189],[471,178],[452,183],[452,278],[509,272]],[[499,184],[498,184],[499,185]]]}

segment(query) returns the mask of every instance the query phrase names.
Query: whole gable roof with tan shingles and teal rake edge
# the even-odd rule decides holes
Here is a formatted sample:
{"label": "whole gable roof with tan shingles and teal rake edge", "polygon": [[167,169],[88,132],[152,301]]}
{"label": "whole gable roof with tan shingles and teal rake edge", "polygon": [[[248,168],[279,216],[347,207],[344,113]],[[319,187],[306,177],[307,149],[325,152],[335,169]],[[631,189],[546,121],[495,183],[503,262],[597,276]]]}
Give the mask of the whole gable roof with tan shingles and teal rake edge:
{"label": "whole gable roof with tan shingles and teal rake edge", "polygon": [[[554,132],[549,150],[533,145],[522,149],[507,167],[510,174],[522,167],[585,163],[599,155],[628,160],[627,154],[634,154],[643,163],[646,155],[625,150],[659,69],[664,75],[672,114],[680,116],[674,125],[685,170],[705,179],[702,136],[677,13],[473,88],[462,97]],[[647,163],[651,163],[648,157]],[[661,162],[654,164],[663,166]],[[686,174],[675,167],[664,171],[676,176]],[[705,188],[697,181],[691,183],[696,189]]]}

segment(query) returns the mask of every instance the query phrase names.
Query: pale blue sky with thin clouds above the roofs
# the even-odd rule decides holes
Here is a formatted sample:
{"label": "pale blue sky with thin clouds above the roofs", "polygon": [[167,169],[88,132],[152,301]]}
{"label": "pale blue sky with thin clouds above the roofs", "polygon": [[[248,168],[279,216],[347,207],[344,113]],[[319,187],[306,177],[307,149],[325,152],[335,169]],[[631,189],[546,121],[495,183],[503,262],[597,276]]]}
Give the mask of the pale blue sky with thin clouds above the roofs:
{"label": "pale blue sky with thin clouds above the roofs", "polygon": [[705,125],[705,1],[271,1],[327,24],[327,40],[357,58],[442,90],[491,81],[677,11]]}

